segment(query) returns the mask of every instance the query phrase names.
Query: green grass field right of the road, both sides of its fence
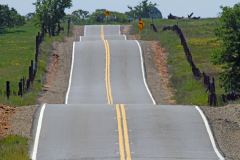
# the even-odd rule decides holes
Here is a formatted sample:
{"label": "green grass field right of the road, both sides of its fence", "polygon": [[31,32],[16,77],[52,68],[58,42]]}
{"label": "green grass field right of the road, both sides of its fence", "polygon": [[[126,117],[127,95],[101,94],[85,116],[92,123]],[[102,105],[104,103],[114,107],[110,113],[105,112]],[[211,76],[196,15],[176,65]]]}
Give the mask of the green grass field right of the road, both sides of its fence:
{"label": "green grass field right of the road, both sides of its fence", "polygon": [[[142,40],[157,40],[161,42],[169,53],[169,70],[171,81],[176,89],[175,99],[178,104],[207,105],[207,93],[201,81],[196,81],[192,76],[191,68],[187,63],[180,40],[175,32],[162,31],[163,26],[178,24],[187,39],[195,64],[203,72],[214,76],[218,99],[223,90],[220,88],[218,75],[220,66],[211,63],[211,55],[219,47],[214,34],[218,26],[218,19],[202,20],[156,20],[155,25],[159,32],[155,33],[150,28],[150,20],[144,20],[145,29],[141,35]],[[134,31],[138,34],[137,22],[134,23]],[[219,104],[222,102],[220,100]]]}

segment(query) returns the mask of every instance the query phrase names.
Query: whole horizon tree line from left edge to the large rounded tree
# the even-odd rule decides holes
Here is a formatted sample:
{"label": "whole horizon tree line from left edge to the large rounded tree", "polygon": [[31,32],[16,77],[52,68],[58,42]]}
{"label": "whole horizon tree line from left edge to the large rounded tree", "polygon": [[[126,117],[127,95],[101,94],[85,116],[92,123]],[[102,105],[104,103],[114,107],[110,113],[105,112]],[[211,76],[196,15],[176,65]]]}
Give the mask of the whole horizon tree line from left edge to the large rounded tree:
{"label": "whole horizon tree line from left edge to the large rounded tree", "polygon": [[129,11],[125,13],[109,11],[110,15],[105,16],[107,9],[96,9],[93,13],[84,10],[76,10],[66,14],[65,9],[72,6],[72,0],[36,0],[35,12],[21,16],[14,8],[7,5],[0,6],[0,28],[10,28],[23,25],[25,20],[34,20],[42,32],[49,36],[58,35],[61,30],[61,23],[71,19],[74,24],[94,23],[128,23],[136,18],[162,18],[162,13],[156,7],[156,3],[143,0],[138,5],[128,6]]}

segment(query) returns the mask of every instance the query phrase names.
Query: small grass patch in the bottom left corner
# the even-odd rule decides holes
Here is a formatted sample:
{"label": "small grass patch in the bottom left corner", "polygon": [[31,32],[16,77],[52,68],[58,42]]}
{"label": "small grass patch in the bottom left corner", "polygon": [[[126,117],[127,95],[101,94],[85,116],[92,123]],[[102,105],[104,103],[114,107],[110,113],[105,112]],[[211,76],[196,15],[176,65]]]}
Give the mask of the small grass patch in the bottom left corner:
{"label": "small grass patch in the bottom left corner", "polygon": [[28,140],[8,136],[0,140],[0,160],[28,160]]}

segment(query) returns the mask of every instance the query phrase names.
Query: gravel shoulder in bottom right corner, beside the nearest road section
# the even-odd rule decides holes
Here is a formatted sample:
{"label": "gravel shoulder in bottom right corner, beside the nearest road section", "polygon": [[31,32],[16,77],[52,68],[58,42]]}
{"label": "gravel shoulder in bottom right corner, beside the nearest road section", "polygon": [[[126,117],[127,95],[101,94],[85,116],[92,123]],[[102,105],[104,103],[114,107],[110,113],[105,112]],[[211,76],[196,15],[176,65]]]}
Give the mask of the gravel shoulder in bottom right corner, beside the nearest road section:
{"label": "gravel shoulder in bottom right corner, beside the nearest road section", "polygon": [[240,105],[201,108],[226,160],[240,160]]}

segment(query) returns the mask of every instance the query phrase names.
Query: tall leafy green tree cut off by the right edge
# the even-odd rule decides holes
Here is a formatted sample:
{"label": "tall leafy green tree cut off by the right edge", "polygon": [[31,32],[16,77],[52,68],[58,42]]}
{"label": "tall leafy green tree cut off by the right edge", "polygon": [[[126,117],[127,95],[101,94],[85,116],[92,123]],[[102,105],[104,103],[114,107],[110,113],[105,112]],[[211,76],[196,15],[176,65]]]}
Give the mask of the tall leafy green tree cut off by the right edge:
{"label": "tall leafy green tree cut off by the right edge", "polygon": [[240,3],[234,7],[222,7],[220,26],[216,35],[221,48],[214,54],[213,61],[220,64],[222,87],[226,93],[240,93]]}

